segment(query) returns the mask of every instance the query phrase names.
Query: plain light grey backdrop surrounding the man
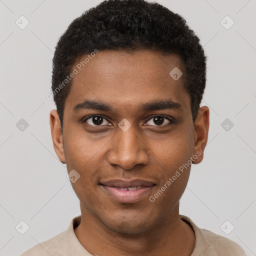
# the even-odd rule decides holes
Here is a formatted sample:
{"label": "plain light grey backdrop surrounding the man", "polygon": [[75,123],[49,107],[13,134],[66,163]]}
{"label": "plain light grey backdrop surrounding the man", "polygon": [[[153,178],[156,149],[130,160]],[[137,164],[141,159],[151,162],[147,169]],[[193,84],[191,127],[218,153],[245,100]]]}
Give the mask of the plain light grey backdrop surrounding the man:
{"label": "plain light grey backdrop surrounding the man", "polygon": [[[0,255],[21,254],[80,214],[53,150],[49,111],[55,106],[46,94],[59,36],[99,2],[0,0]],[[180,213],[256,255],[256,0],[156,2],[187,20],[208,56],[202,105],[210,107],[209,140],[204,160],[192,165]],[[24,29],[15,24],[21,15],[29,21]],[[226,15],[234,21],[229,29],[220,23]],[[21,118],[29,124],[23,131],[16,126]],[[227,131],[226,118],[234,124]],[[21,220],[29,226],[23,235],[15,229]],[[226,220],[231,224],[221,229]]]}

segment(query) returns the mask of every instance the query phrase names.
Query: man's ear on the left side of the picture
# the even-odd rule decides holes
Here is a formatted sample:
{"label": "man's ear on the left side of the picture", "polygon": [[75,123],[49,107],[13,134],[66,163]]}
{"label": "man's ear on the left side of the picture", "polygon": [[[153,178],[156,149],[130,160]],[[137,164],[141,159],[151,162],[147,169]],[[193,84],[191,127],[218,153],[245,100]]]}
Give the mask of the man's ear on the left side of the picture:
{"label": "man's ear on the left side of the picture", "polygon": [[50,131],[54,150],[62,163],[65,163],[63,137],[57,110],[50,111]]}

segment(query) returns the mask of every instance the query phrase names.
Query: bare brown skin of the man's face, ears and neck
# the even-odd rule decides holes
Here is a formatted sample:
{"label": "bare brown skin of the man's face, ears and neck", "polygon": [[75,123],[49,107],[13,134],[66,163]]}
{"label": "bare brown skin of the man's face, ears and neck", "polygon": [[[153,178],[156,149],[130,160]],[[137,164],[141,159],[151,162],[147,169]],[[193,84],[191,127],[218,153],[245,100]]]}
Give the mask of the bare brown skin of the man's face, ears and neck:
{"label": "bare brown skin of the man's face, ears and neck", "polygon": [[[55,152],[68,172],[75,169],[80,174],[72,183],[81,208],[81,223],[74,232],[92,255],[174,256],[193,251],[193,230],[179,217],[190,166],[154,202],[148,199],[189,157],[200,152],[193,164],[202,160],[208,137],[209,109],[200,107],[193,123],[182,76],[175,81],[169,75],[174,67],[183,70],[174,54],[99,51],[72,79],[62,133],[56,110],[50,112]],[[84,99],[105,102],[113,109],[73,111]],[[180,109],[140,109],[144,103],[167,99],[178,102]],[[91,114],[103,115],[100,127],[92,118],[82,122]],[[157,125],[152,115],[173,122],[164,118]],[[123,118],[131,124],[125,132],[118,127]],[[146,198],[120,203],[99,185],[117,178],[146,179],[156,185]]]}

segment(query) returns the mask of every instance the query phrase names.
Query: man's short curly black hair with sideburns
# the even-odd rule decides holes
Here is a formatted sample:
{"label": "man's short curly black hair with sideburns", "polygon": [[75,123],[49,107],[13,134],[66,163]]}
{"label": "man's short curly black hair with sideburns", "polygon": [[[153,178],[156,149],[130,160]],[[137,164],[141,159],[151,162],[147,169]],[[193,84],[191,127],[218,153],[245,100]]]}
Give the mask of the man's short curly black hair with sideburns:
{"label": "man's short curly black hair with sideburns", "polygon": [[194,122],[206,81],[206,57],[194,31],[183,17],[158,3],[105,0],[74,19],[55,47],[51,89],[61,128],[65,99],[72,82],[66,77],[78,58],[95,52],[95,49],[149,49],[178,54],[184,68],[183,85],[190,96]]}

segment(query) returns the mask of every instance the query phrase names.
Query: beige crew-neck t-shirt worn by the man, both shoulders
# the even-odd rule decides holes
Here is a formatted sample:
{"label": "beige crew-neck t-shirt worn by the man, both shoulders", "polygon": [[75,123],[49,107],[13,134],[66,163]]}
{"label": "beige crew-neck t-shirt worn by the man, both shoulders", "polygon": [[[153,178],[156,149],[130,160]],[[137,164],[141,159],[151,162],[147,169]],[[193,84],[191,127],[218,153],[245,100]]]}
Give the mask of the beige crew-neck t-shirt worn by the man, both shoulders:
{"label": "beige crew-neck t-shirt worn by the man, both shoulders", "polygon": [[[186,216],[180,215],[180,218],[188,223],[195,233],[195,246],[191,256],[245,256],[243,249],[234,241],[197,227]],[[80,215],[74,217],[67,230],[36,244],[21,256],[91,256],[74,233],[74,228],[79,225],[80,220]]]}

